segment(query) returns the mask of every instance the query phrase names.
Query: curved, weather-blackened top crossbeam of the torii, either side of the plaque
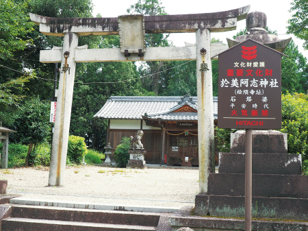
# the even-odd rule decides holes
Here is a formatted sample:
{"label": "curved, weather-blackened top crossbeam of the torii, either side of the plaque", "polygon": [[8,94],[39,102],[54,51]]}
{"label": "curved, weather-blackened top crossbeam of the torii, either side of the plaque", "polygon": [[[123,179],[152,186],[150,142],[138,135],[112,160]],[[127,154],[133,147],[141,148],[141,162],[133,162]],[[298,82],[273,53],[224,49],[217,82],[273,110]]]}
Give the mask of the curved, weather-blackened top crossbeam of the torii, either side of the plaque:
{"label": "curved, weather-blackened top crossbeam of the torii, either side of the plaque", "polygon": [[[144,16],[146,34],[187,33],[196,29],[227,32],[236,29],[237,21],[246,19],[250,5],[235,10],[204,14]],[[118,18],[49,18],[30,14],[31,21],[40,25],[40,32],[49,36],[64,36],[73,32],[79,36],[118,34]]]}

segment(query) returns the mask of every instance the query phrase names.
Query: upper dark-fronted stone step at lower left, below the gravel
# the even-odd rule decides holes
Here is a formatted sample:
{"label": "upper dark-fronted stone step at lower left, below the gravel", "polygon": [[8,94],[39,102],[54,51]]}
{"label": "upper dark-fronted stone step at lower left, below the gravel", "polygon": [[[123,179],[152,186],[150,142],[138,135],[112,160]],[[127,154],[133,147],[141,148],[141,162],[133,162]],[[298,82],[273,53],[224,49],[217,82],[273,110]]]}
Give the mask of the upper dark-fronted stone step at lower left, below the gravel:
{"label": "upper dark-fronted stone step at lower left, below the gravel", "polygon": [[157,226],[160,213],[12,205],[10,217],[84,223]]}

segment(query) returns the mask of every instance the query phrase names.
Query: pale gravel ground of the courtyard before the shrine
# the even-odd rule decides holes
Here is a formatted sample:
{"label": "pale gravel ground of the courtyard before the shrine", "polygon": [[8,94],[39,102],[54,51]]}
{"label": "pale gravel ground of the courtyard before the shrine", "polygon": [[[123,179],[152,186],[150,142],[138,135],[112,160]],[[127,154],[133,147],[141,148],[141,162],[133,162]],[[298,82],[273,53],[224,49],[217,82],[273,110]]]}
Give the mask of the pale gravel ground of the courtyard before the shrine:
{"label": "pale gravel ground of the courtyard before the shrine", "polygon": [[63,187],[47,186],[48,168],[1,169],[8,193],[33,199],[112,205],[194,206],[197,169],[116,169],[67,167]]}

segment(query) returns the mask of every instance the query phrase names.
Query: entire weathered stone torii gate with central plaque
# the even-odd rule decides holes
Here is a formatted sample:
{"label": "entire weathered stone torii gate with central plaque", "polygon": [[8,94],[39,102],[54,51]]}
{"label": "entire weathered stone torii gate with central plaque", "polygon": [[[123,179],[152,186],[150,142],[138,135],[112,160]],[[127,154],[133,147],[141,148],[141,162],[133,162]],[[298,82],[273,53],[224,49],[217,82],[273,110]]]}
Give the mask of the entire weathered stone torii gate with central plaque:
{"label": "entire weathered stone torii gate with central plaque", "polygon": [[[214,117],[211,56],[227,46],[211,46],[210,32],[236,29],[237,21],[246,19],[250,5],[225,12],[118,18],[58,19],[30,14],[47,36],[64,36],[63,47],[40,51],[40,62],[62,62],[57,113],[51,150],[49,186],[64,185],[64,170],[70,127],[70,112],[76,62],[124,62],[158,60],[196,60],[198,97],[199,193],[207,193],[207,172],[214,166]],[[196,33],[195,47],[145,47],[144,34]],[[120,35],[120,49],[78,47],[78,36]]]}

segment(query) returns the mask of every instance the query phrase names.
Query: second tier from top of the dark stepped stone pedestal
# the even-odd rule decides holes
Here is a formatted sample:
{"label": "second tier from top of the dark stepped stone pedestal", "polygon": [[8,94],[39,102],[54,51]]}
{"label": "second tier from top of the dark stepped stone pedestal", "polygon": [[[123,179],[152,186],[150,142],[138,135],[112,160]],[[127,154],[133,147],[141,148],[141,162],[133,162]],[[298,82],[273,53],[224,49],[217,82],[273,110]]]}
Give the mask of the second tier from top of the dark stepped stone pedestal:
{"label": "second tier from top of the dark stepped stone pedestal", "polygon": [[[253,174],[301,175],[301,155],[253,154]],[[219,173],[245,173],[245,154],[220,153]]]}

